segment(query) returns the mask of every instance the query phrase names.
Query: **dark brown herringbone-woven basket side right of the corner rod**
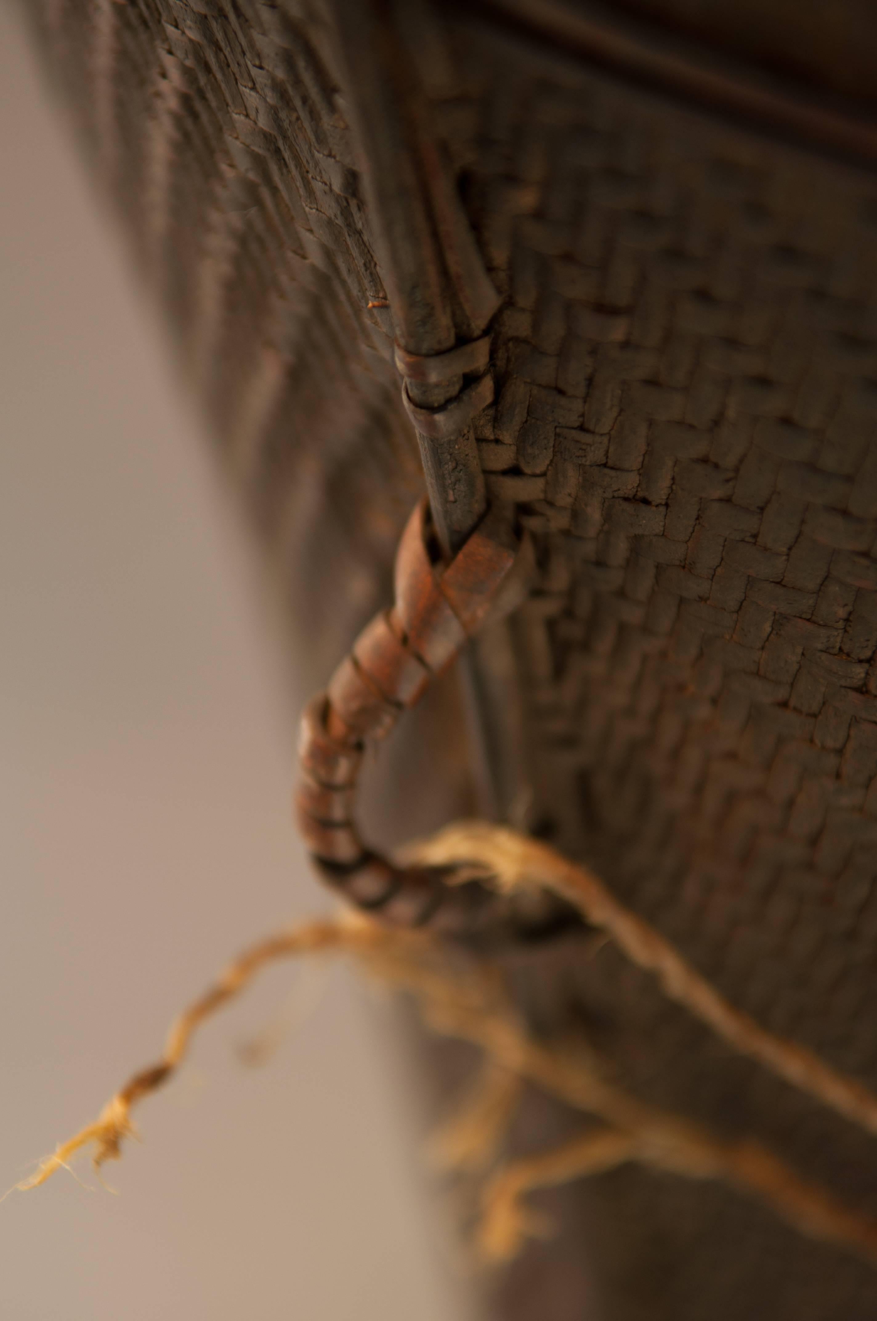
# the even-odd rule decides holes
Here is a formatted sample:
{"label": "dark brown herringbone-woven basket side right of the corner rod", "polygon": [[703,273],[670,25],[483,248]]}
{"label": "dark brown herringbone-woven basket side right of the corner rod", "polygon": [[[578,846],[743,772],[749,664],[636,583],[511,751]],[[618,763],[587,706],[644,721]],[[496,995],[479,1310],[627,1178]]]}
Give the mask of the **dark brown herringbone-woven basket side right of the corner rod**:
{"label": "dark brown herringbone-woven basket side right of the corner rod", "polygon": [[[736,1004],[873,1083],[873,178],[597,75],[564,87],[474,26],[454,49],[478,91],[446,108],[470,116],[458,159],[507,297],[483,464],[540,547],[519,620],[531,823]],[[873,1202],[866,1140],[724,1058],[610,952],[564,975],[643,1094],[770,1133]],[[604,1181],[623,1250],[593,1231],[619,1316],[873,1312],[870,1281],[840,1268],[829,1301],[824,1260],[745,1211],[634,1184]]]}

